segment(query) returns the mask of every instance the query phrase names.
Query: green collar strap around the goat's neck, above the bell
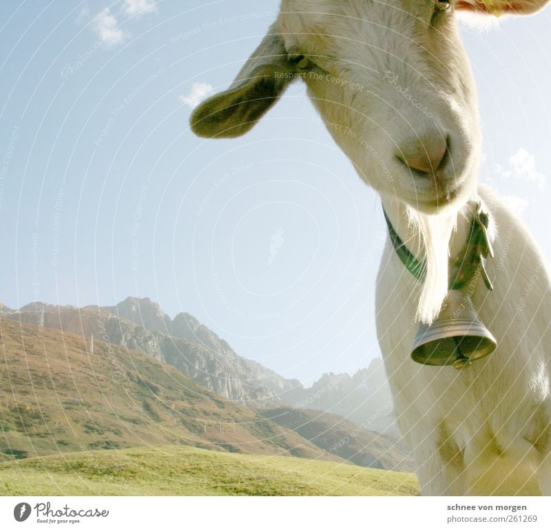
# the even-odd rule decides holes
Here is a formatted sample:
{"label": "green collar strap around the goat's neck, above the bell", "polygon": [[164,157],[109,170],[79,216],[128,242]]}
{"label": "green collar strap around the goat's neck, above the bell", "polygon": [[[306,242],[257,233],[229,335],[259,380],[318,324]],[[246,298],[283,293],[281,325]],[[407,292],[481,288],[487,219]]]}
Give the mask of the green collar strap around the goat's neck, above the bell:
{"label": "green collar strap around the goat's neck, above the bell", "polygon": [[[423,282],[426,274],[426,260],[418,260],[406,247],[404,241],[397,234],[396,230],[388,218],[386,211],[383,207],[384,218],[386,220],[386,226],[388,227],[388,235],[391,238],[394,250],[399,257],[400,261],[404,264],[404,267],[417,278],[419,282]],[[490,216],[481,202],[476,205],[475,216],[470,223],[470,232],[467,238],[467,242],[461,252],[455,259],[450,260],[449,266],[449,288],[450,289],[462,289],[480,271],[486,288],[490,291],[493,289],[492,282],[488,278],[486,272],[486,258],[491,256],[493,258],[494,252],[492,245],[488,238],[488,225],[490,222]]]}

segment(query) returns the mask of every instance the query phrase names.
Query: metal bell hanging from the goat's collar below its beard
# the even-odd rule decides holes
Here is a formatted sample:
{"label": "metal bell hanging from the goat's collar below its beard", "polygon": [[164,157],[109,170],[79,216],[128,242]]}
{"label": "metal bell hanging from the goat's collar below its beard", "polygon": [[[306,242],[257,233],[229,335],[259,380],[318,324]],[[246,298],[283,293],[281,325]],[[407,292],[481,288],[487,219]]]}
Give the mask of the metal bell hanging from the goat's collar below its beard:
{"label": "metal bell hanging from the goat's collar below its beard", "polygon": [[450,289],[438,318],[422,324],[413,341],[411,358],[423,365],[468,367],[495,350],[497,343],[477,317],[469,296]]}

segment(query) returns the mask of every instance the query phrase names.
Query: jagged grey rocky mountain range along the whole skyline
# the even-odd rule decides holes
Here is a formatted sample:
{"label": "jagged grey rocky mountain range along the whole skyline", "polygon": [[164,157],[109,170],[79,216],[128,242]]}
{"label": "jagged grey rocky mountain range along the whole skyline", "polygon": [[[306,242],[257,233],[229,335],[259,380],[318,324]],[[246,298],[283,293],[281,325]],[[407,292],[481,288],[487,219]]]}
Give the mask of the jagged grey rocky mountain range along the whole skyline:
{"label": "jagged grey rocky mountain range along the whole skyline", "polygon": [[126,298],[115,306],[54,306],[32,303],[4,318],[93,335],[113,345],[136,349],[178,368],[201,385],[247,406],[262,410],[281,406],[321,409],[340,414],[369,429],[399,436],[392,417],[391,392],[382,360],[349,374],[324,374],[312,387],[286,379],[255,361],[238,356],[231,346],[194,316],[174,319],[149,298]]}

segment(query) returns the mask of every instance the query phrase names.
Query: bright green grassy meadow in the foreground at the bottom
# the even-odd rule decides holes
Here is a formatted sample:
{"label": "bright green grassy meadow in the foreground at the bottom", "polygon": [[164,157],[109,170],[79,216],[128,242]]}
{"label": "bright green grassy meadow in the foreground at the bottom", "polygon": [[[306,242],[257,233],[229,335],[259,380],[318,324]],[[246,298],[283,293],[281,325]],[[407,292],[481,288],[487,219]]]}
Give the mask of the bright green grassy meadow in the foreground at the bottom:
{"label": "bright green grassy meadow in the foreground at the bottom", "polygon": [[411,496],[409,473],[192,447],[85,451],[0,465],[0,494]]}

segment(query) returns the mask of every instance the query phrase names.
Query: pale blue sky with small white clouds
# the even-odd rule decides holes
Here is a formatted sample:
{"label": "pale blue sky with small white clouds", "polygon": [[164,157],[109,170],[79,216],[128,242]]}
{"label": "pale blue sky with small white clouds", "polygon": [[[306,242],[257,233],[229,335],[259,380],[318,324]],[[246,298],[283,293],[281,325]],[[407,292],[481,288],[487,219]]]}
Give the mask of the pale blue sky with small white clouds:
{"label": "pale blue sky with small white clouds", "polygon": [[[1,302],[147,296],[307,385],[380,355],[380,204],[304,87],[240,139],[189,131],[278,4],[0,3]],[[479,179],[548,258],[550,18],[461,30],[479,90]]]}

